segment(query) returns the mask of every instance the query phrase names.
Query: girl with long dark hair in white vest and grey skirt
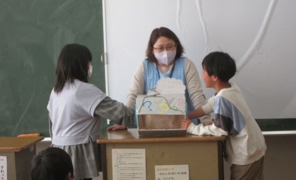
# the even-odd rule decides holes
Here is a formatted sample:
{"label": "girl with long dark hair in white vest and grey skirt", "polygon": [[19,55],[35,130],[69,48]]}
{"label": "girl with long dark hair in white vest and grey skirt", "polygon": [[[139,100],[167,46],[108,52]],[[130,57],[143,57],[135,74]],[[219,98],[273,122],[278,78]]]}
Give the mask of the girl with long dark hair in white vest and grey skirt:
{"label": "girl with long dark hair in white vest and grey skirt", "polygon": [[75,179],[98,176],[101,117],[117,124],[134,124],[133,109],[112,100],[93,84],[91,53],[80,44],[67,44],[58,58],[55,86],[47,109],[52,146],[71,157]]}

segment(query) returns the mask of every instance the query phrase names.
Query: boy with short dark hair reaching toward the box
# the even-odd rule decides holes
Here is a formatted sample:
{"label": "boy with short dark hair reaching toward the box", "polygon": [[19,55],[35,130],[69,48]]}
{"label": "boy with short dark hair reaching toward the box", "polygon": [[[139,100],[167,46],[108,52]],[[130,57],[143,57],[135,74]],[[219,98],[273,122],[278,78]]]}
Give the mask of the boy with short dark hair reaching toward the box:
{"label": "boy with short dark hair reaching toward the box", "polygon": [[188,114],[196,118],[214,112],[212,125],[194,125],[183,119],[182,127],[195,135],[227,136],[224,158],[231,163],[230,179],[264,179],[265,140],[242,92],[228,82],[236,72],[234,60],[224,52],[211,52],[202,62],[203,80],[216,93],[204,106]]}

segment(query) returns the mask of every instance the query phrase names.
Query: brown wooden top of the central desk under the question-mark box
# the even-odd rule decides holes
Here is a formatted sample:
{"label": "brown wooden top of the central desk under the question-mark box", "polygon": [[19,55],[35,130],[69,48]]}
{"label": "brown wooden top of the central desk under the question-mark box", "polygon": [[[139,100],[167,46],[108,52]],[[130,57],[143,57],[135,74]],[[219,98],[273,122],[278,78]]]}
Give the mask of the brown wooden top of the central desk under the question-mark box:
{"label": "brown wooden top of the central desk under the question-mark box", "polygon": [[98,144],[114,143],[152,143],[152,142],[192,142],[192,141],[223,141],[225,136],[186,136],[174,137],[139,137],[136,128],[120,131],[107,131],[106,134],[96,140]]}

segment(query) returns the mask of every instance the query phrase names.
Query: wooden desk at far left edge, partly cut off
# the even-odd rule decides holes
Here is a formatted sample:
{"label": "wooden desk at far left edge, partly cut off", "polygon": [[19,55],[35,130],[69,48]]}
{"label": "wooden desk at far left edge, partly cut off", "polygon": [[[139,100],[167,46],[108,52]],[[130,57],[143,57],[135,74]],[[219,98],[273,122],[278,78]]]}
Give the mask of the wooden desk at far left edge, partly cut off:
{"label": "wooden desk at far left edge, partly cut off", "polygon": [[0,156],[7,157],[9,180],[31,179],[31,160],[36,154],[35,144],[43,137],[0,137]]}

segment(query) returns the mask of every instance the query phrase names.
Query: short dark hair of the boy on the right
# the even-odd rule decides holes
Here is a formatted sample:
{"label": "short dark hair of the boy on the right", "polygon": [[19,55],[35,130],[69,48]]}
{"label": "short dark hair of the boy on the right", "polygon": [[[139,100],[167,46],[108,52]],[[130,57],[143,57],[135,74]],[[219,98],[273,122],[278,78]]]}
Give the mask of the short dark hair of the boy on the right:
{"label": "short dark hair of the boy on the right", "polygon": [[225,52],[209,53],[204,58],[202,66],[209,76],[217,76],[222,82],[228,82],[236,72],[234,59]]}

